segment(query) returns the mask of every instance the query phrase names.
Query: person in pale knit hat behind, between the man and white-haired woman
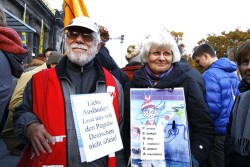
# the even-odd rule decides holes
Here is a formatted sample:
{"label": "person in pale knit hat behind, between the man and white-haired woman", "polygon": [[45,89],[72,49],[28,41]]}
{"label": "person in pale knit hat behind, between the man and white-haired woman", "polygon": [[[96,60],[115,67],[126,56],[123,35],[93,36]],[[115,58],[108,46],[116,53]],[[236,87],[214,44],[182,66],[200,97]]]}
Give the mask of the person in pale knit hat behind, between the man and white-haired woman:
{"label": "person in pale knit hat behind, between the man and white-haired woman", "polygon": [[129,45],[127,48],[127,54],[125,55],[128,64],[122,68],[123,72],[129,81],[132,80],[135,70],[139,70],[142,67],[140,58],[140,49],[135,45]]}

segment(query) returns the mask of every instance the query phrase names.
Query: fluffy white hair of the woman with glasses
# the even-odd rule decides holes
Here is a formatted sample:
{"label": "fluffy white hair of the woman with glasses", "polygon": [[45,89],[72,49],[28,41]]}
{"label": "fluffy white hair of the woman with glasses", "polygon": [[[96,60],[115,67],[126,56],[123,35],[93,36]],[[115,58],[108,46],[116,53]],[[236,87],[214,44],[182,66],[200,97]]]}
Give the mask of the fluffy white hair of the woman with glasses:
{"label": "fluffy white hair of the woman with glasses", "polygon": [[147,63],[151,47],[170,49],[173,53],[173,63],[179,62],[181,59],[181,54],[175,39],[166,30],[163,30],[157,34],[150,35],[146,39],[146,41],[142,45],[142,49],[140,52],[140,57],[143,63]]}

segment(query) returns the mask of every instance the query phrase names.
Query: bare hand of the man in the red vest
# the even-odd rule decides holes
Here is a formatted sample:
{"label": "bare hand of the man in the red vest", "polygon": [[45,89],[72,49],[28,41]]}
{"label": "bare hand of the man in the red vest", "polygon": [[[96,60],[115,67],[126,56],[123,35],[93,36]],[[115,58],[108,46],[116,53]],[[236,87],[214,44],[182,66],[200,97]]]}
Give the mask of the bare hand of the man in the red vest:
{"label": "bare hand of the man in the red vest", "polygon": [[49,142],[54,145],[53,137],[46,131],[43,124],[32,123],[26,128],[27,138],[30,140],[37,156],[42,153],[51,153]]}

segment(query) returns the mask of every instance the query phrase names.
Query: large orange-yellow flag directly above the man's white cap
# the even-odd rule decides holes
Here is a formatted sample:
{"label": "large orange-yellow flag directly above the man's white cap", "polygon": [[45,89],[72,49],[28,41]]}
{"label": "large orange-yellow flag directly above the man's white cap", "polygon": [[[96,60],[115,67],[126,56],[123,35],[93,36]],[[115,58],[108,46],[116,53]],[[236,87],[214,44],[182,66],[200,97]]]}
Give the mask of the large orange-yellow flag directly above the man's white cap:
{"label": "large orange-yellow flag directly above the man's white cap", "polygon": [[64,10],[64,27],[69,24],[69,22],[79,16],[89,17],[87,8],[83,0],[64,0],[63,1]]}

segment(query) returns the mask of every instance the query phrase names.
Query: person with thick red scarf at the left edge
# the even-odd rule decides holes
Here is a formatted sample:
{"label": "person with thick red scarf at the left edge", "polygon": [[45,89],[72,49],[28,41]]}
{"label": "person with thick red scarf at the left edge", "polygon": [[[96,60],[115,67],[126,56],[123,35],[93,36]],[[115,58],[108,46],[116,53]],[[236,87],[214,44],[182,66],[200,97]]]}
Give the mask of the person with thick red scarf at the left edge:
{"label": "person with thick red scarf at the left edge", "polygon": [[11,96],[12,76],[20,78],[23,60],[28,54],[18,33],[5,25],[4,10],[0,6],[0,125],[5,122],[3,115]]}

